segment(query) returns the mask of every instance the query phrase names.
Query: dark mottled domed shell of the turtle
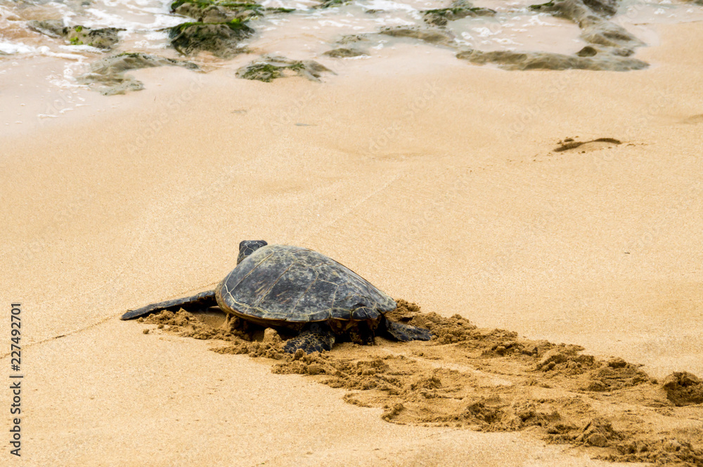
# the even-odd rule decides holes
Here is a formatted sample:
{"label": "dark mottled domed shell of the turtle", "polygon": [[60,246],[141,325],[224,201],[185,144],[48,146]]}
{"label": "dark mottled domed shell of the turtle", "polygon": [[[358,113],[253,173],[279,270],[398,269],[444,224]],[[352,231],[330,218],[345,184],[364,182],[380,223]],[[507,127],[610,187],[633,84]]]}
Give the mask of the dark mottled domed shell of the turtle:
{"label": "dark mottled domed shell of the turtle", "polygon": [[378,320],[395,301],[344,265],[299,246],[267,245],[215,289],[224,311],[264,325]]}

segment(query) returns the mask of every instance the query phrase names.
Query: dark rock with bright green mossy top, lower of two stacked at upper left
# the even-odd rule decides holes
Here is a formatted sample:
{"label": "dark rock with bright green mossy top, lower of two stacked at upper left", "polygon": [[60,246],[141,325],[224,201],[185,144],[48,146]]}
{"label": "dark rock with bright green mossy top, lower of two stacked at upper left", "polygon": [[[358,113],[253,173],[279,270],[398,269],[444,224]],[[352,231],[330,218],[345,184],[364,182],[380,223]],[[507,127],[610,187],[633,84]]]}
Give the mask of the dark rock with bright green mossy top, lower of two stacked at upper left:
{"label": "dark rock with bright green mossy top, lower of two stacked at upper left", "polygon": [[220,58],[243,52],[239,42],[254,34],[243,20],[228,22],[184,22],[169,31],[171,45],[183,55],[209,51]]}

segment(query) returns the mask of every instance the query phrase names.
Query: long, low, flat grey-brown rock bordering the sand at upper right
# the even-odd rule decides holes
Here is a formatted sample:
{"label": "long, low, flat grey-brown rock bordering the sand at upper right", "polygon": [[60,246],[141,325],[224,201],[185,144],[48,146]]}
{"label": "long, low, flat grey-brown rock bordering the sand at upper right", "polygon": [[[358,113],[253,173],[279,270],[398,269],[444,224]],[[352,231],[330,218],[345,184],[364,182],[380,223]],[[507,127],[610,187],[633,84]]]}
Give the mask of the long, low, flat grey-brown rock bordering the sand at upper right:
{"label": "long, low, flat grey-brown rock bordering the sand at upper right", "polygon": [[565,55],[548,52],[512,52],[466,50],[456,54],[456,58],[467,60],[474,65],[494,63],[503,70],[605,70],[624,72],[642,70],[649,65],[636,58],[617,55]]}

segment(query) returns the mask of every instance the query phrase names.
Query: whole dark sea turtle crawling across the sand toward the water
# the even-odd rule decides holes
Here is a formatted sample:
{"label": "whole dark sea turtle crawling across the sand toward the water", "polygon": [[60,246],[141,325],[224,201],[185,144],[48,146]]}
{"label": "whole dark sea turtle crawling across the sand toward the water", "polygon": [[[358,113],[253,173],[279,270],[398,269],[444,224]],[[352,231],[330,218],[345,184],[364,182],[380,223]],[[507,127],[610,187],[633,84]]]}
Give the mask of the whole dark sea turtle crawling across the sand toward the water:
{"label": "whole dark sea turtle crawling across the sand toward the water", "polygon": [[316,251],[264,240],[241,242],[236,268],[214,290],[146,305],[122,320],[183,305],[217,305],[264,327],[298,331],[285,343],[289,353],[331,350],[335,338],[372,344],[377,333],[397,341],[432,338],[427,329],[387,319],[395,301],[356,272]]}

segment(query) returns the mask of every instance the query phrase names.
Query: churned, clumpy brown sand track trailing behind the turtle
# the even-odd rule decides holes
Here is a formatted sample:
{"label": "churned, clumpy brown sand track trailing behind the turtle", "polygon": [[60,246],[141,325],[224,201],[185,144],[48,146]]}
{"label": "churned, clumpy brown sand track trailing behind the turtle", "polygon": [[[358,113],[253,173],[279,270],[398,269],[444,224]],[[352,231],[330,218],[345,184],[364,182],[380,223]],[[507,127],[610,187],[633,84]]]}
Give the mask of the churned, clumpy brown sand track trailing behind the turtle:
{"label": "churned, clumpy brown sand track trailing behind the turtle", "polygon": [[342,343],[332,352],[290,355],[277,331],[224,315],[218,326],[185,310],[142,322],[228,341],[213,350],[264,357],[273,373],[344,388],[345,401],[381,408],[392,423],[526,430],[600,459],[703,466],[703,383],[692,374],[673,373],[660,384],[621,358],[600,360],[579,346],[480,329],[460,315],[422,313],[402,300],[389,316],[427,327],[434,338],[377,338],[376,346]]}

